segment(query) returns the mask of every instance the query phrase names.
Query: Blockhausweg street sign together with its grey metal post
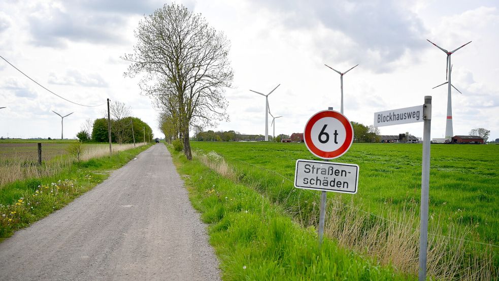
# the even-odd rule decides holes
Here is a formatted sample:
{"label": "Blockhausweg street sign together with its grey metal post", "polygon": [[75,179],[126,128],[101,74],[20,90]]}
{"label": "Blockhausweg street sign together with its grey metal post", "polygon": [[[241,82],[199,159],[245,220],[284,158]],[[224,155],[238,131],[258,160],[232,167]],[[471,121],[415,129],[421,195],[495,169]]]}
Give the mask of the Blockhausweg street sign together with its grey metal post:
{"label": "Blockhausweg street sign together with its grey metal post", "polygon": [[421,208],[419,233],[419,280],[426,280],[428,248],[428,197],[431,132],[431,96],[424,97],[424,105],[374,113],[374,126],[390,126],[412,122],[423,123],[423,160],[421,167]]}

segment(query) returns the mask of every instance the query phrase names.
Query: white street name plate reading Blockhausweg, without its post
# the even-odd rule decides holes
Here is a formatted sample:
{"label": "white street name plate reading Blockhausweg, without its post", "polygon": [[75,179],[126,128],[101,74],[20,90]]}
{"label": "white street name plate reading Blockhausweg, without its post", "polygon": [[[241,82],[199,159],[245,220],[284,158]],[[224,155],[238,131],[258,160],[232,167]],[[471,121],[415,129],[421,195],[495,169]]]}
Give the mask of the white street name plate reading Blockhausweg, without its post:
{"label": "white street name plate reading Blockhausweg, without its post", "polygon": [[390,126],[396,124],[423,121],[423,106],[413,106],[374,113],[374,126]]}

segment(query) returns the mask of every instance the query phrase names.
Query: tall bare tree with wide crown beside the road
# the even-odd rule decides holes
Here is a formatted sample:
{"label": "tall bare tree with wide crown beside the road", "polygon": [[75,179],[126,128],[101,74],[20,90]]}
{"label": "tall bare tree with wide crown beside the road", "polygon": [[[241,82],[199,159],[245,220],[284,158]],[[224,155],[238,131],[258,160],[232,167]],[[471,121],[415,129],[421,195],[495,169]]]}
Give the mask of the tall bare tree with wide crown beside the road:
{"label": "tall bare tree with wide crown beside the road", "polygon": [[200,14],[182,5],[164,5],[145,16],[135,31],[134,53],[125,75],[145,72],[141,88],[178,119],[187,159],[192,159],[189,129],[228,119],[224,90],[234,74],[229,41]]}

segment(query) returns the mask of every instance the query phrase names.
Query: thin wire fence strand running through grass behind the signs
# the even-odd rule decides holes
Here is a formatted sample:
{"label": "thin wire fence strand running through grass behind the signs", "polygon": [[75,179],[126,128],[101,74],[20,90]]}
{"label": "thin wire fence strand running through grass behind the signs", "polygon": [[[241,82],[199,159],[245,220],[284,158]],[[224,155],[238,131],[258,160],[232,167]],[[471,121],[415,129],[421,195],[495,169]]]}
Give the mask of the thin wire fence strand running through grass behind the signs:
{"label": "thin wire fence strand running through grass behind the signs", "polygon": [[[217,152],[217,153],[218,153],[218,152]],[[218,154],[220,154],[220,153],[218,153]],[[278,175],[278,176],[282,177],[284,180],[287,180],[287,181],[291,182],[291,183],[294,185],[294,182],[293,182],[291,179],[287,178],[286,176],[284,176],[284,175],[282,175],[282,174],[280,174],[280,173],[278,173],[278,172],[276,172],[276,171],[274,171],[274,170],[267,169],[267,168],[263,168],[263,167],[260,167],[260,166],[257,166],[257,165],[254,165],[254,164],[248,163],[248,162],[246,162],[246,161],[242,161],[242,160],[239,160],[239,159],[236,159],[236,158],[233,158],[233,157],[229,157],[229,156],[224,155],[224,154],[220,154],[220,155],[221,155],[223,158],[229,158],[229,159],[232,159],[232,160],[235,160],[235,161],[238,161],[238,162],[241,162],[241,163],[244,163],[244,164],[250,165],[250,166],[255,167],[255,168],[257,168],[257,169],[260,169],[260,170],[265,170],[265,171],[271,172],[271,173],[273,173],[273,174],[276,174],[276,175]],[[291,190],[291,191],[290,191],[290,194],[291,194],[291,192],[292,192],[292,191],[293,191],[293,190]],[[307,190],[307,189],[306,189],[305,191],[307,191],[307,192],[309,192],[309,193],[313,194],[313,195],[314,195],[314,196],[316,196],[316,197],[320,197],[320,194],[318,194],[318,193],[314,193],[314,192],[312,192],[311,190]],[[289,195],[288,195],[288,197],[289,197]],[[332,199],[331,199],[331,198],[327,198],[327,200],[328,200],[328,201],[332,201]],[[345,203],[340,202],[340,201],[336,201],[336,202],[338,202],[338,203],[342,204],[342,205],[343,205],[343,206],[345,206],[345,207],[351,208],[351,209],[353,209],[353,210],[360,211],[360,212],[363,212],[363,213],[366,213],[366,214],[369,214],[369,215],[375,216],[375,217],[379,218],[380,220],[383,220],[383,221],[386,221],[386,222],[390,222],[390,223],[393,223],[393,224],[396,224],[396,225],[402,226],[402,227],[407,228],[407,229],[414,230],[415,232],[418,232],[418,231],[419,231],[419,229],[416,229],[416,228],[414,228],[414,227],[411,227],[411,226],[408,226],[408,225],[402,224],[402,223],[400,223],[400,222],[396,222],[396,221],[389,220],[388,218],[383,217],[383,216],[381,216],[381,215],[377,215],[377,214],[375,214],[375,213],[372,213],[372,212],[369,212],[369,211],[362,210],[362,209],[360,209],[360,208],[358,208],[358,207],[355,207],[355,206],[352,206],[352,205],[349,205],[349,204],[345,204]],[[481,244],[481,245],[490,246],[490,247],[499,247],[499,245],[495,245],[495,244],[489,244],[489,243],[484,243],[484,242],[478,242],[478,241],[473,241],[473,240],[467,240],[467,239],[462,239],[462,238],[456,238],[456,237],[446,236],[446,235],[441,235],[441,234],[436,234],[436,233],[428,233],[428,235],[430,235],[430,236],[434,236],[434,237],[448,238],[448,239],[458,240],[458,241],[465,241],[465,242],[474,243],[474,244]]]}

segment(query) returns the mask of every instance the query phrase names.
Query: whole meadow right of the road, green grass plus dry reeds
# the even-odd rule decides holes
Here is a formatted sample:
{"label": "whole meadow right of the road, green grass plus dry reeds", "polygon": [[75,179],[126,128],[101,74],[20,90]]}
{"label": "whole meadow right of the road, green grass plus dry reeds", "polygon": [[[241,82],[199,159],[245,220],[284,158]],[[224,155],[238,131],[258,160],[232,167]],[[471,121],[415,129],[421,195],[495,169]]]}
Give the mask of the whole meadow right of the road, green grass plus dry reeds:
{"label": "whole meadow right of the road, green grass plus dry reeds", "polygon": [[[316,159],[304,144],[193,142],[192,147],[206,165],[252,186],[298,224],[317,225],[319,193],[294,189],[292,183],[296,159]],[[431,145],[430,275],[498,277],[498,152],[497,145]],[[421,144],[354,143],[335,162],[359,165],[358,193],[328,193],[326,235],[382,264],[417,272],[421,154]]]}

